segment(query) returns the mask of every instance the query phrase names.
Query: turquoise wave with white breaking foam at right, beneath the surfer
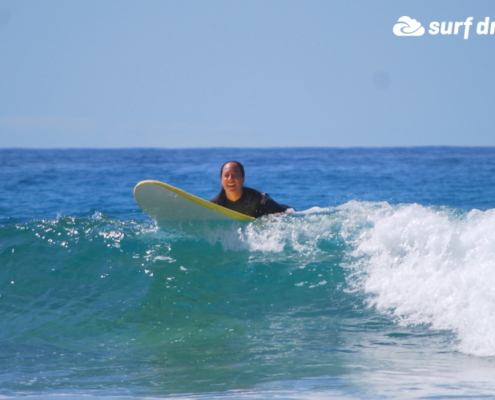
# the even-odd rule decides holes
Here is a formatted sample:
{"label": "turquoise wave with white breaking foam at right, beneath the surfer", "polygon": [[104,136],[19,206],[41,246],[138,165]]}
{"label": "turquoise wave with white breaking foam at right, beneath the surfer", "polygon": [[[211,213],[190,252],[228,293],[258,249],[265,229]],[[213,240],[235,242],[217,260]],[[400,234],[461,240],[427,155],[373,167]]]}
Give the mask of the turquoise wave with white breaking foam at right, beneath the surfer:
{"label": "turquoise wave with white breaking foam at right, beneath the surfer", "polygon": [[494,222],[495,210],[351,201],[181,229],[98,213],[5,225],[0,341],[156,351],[239,334],[268,357],[290,347],[274,332],[311,341],[308,321],[321,338],[375,320],[493,356]]}

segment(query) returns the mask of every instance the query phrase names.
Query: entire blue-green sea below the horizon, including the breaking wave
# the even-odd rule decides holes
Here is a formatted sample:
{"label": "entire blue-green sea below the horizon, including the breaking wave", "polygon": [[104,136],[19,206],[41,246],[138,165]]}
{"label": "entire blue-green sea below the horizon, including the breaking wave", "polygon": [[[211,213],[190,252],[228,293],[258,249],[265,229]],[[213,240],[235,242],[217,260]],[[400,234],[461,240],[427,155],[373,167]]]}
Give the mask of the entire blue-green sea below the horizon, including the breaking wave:
{"label": "entire blue-green sea below the horizon, including the breaking wave", "polygon": [[[157,226],[227,160],[295,213]],[[0,398],[495,397],[495,148],[0,150]]]}

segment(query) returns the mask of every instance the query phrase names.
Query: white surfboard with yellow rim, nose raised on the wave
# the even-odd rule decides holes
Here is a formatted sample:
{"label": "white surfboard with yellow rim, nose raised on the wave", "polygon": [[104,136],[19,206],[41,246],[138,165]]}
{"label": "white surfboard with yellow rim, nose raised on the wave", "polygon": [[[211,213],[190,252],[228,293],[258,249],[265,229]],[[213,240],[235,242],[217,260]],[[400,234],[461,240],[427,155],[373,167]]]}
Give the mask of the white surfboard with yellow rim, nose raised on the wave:
{"label": "white surfboard with yellow rim, nose raised on the wave", "polygon": [[238,220],[253,217],[229,210],[164,182],[146,180],[134,188],[138,206],[157,222]]}

